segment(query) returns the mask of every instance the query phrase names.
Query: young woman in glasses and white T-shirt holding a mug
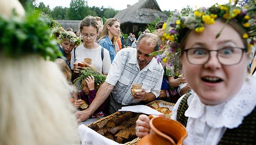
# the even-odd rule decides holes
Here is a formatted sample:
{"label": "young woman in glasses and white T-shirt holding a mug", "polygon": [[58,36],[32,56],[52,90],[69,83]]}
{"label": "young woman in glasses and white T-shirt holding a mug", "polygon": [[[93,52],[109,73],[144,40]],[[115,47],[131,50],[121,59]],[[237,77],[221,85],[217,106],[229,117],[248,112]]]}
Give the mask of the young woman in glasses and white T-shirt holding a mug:
{"label": "young woman in glasses and white T-shirt holding a mug", "polygon": [[71,57],[72,79],[76,78],[80,70],[85,67],[78,66],[78,62],[84,62],[84,58],[91,58],[92,64],[85,63],[86,67],[97,69],[100,73],[107,75],[111,61],[109,52],[95,42],[99,32],[99,25],[92,16],[85,17],[80,24],[80,31],[84,43],[74,48]]}

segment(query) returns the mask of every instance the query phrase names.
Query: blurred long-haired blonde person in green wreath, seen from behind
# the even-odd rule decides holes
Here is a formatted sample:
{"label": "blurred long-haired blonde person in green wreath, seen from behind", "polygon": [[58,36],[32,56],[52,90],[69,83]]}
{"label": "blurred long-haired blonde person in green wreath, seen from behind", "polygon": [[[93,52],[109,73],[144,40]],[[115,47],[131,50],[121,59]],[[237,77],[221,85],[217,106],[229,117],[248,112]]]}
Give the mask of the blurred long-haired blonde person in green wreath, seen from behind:
{"label": "blurred long-haired blonde person in green wreath, seen from behind", "polygon": [[[61,52],[46,19],[17,0],[0,1],[0,144],[75,144],[68,83],[52,62]],[[77,137],[75,139],[75,137]]]}

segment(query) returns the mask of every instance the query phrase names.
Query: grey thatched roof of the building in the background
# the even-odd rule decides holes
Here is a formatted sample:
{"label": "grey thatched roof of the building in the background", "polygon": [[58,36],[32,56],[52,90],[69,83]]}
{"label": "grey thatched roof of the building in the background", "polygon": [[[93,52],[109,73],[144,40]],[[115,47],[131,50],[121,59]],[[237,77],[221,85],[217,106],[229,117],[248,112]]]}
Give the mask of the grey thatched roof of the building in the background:
{"label": "grey thatched roof of the building in the background", "polygon": [[114,16],[114,18],[118,18],[121,24],[129,22],[148,24],[156,21],[157,17],[163,22],[168,19],[168,17],[159,8],[156,0],[140,0],[138,3],[129,6]]}

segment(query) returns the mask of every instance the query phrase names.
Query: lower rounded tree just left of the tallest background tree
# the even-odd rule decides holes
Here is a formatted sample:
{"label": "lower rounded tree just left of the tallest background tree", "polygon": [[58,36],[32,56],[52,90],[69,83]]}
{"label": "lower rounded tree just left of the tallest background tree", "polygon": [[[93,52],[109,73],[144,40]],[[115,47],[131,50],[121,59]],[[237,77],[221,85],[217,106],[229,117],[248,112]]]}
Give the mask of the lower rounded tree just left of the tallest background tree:
{"label": "lower rounded tree just left of the tallest background tree", "polygon": [[53,19],[68,19],[68,8],[56,6],[50,14]]}

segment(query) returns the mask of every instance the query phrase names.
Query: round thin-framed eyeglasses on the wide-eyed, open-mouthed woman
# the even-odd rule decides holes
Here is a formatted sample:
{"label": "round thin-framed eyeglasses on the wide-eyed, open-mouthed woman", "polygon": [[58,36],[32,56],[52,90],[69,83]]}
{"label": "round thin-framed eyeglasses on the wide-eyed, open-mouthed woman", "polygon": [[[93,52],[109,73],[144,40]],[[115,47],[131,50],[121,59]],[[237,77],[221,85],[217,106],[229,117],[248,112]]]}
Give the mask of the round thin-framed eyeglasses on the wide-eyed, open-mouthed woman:
{"label": "round thin-framed eyeglasses on the wide-eyed, open-mouthed woman", "polygon": [[242,60],[246,48],[225,47],[219,50],[208,50],[206,48],[189,48],[184,50],[188,62],[195,65],[206,64],[210,59],[210,51],[217,51],[217,59],[223,65],[238,64]]}

